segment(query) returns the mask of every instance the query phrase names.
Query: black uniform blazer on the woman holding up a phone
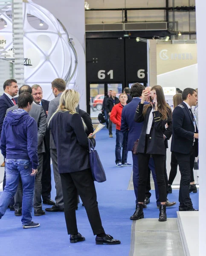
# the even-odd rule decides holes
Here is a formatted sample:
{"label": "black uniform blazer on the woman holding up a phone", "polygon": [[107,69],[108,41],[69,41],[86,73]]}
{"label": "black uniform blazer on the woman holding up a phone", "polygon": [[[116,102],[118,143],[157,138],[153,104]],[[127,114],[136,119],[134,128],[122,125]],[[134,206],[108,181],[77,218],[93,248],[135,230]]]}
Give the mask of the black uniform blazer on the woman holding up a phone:
{"label": "black uniform blazer on the woman holding up a phone", "polygon": [[[145,116],[143,116],[144,104],[139,103],[135,113],[135,122],[143,122],[142,132],[139,137],[139,142],[137,146],[138,153],[145,153],[145,138],[148,125],[148,119],[150,112],[152,111],[152,106],[147,109]],[[161,113],[159,111],[153,112],[153,122],[149,134],[147,154],[162,154],[165,155],[165,143],[164,143],[164,132],[165,124],[171,124],[172,117],[168,116],[168,119],[165,121],[161,120]]]}

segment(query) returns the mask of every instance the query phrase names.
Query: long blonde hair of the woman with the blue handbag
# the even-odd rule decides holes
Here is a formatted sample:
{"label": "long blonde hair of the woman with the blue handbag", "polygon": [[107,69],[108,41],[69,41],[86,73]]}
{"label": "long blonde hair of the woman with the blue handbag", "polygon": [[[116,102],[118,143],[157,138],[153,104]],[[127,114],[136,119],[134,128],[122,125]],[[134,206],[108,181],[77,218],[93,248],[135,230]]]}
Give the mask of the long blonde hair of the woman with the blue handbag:
{"label": "long blonde hair of the woman with the blue handbag", "polygon": [[[80,95],[77,91],[73,89],[67,89],[61,94],[61,98],[59,101],[59,106],[55,113],[51,116],[49,123],[51,122],[53,116],[60,112],[65,112],[65,111],[70,111],[70,112],[76,112],[76,108],[78,106],[80,99]],[[84,125],[84,130],[87,130],[87,125],[84,122],[84,119],[82,119],[83,125]],[[49,125],[49,124],[48,124]]]}

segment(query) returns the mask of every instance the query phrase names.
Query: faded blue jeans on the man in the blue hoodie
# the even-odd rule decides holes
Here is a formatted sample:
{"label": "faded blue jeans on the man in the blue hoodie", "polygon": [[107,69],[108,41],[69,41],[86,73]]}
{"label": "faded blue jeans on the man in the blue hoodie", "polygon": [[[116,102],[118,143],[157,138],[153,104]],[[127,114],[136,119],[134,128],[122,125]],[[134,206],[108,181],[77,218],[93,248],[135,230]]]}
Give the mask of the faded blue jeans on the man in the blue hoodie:
{"label": "faded blue jeans on the man in the blue hoodie", "polygon": [[32,204],[34,197],[35,176],[31,176],[32,165],[29,160],[6,159],[6,186],[0,196],[0,218],[6,212],[11,199],[14,197],[19,178],[23,185],[22,203],[22,224],[27,225],[32,222]]}

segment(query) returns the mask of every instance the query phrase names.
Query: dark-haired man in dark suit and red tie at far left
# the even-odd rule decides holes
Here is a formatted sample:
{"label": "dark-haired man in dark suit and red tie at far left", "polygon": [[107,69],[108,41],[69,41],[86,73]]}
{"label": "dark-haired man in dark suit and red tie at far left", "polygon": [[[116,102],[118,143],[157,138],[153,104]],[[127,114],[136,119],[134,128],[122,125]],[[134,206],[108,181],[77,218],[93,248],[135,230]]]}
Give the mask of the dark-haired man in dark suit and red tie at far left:
{"label": "dark-haired man in dark suit and red tie at far left", "polygon": [[[1,135],[1,130],[3,126],[3,120],[6,115],[6,110],[16,105],[14,97],[18,93],[17,81],[15,79],[6,80],[3,84],[3,90],[4,90],[4,93],[0,97],[0,135]],[[2,166],[4,166],[4,163],[2,164]],[[4,177],[3,177],[3,189],[5,185],[6,185],[6,173],[4,173]],[[14,200],[12,199],[10,204],[10,207],[11,207],[10,209],[12,210],[14,209],[13,205],[14,205]]]}

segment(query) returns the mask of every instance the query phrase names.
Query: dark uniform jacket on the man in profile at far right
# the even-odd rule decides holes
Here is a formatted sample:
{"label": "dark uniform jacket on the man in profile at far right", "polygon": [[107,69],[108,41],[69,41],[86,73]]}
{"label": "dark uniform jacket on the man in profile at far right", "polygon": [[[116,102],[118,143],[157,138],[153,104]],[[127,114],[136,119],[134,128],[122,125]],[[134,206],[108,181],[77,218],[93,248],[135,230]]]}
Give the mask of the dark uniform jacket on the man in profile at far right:
{"label": "dark uniform jacket on the man in profile at far right", "polygon": [[[189,108],[184,102],[174,109],[172,113],[172,122],[171,151],[189,154],[194,142],[194,120],[192,119]],[[196,133],[198,133],[197,125]],[[195,140],[195,144],[198,144],[198,140]],[[196,152],[196,155],[197,154],[198,152]]]}

